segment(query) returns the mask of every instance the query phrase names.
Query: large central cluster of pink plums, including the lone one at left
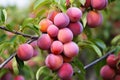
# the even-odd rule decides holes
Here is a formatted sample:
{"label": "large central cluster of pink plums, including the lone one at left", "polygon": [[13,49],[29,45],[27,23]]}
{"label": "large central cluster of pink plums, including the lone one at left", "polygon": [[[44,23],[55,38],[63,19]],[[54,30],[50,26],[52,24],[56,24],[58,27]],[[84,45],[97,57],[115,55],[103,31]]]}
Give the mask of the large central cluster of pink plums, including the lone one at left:
{"label": "large central cluster of pink plums, including the lone one at left", "polygon": [[78,45],[73,37],[83,31],[80,22],[82,11],[77,7],[69,8],[66,13],[52,11],[47,18],[39,23],[41,36],[31,44],[21,44],[17,49],[17,56],[27,61],[37,55],[36,46],[48,51],[45,65],[57,71],[62,80],[69,80],[73,75],[72,65],[69,63],[79,53]]}

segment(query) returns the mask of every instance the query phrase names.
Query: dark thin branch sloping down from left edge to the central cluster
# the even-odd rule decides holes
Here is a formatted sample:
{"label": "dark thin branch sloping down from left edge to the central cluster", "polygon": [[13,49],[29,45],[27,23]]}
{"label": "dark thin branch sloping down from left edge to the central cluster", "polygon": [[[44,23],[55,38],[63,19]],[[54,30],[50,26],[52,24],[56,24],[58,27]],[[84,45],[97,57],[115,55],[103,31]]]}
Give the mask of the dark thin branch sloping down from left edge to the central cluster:
{"label": "dark thin branch sloping down from left edge to the central cluster", "polygon": [[4,26],[0,26],[0,29],[4,30],[4,31],[8,31],[8,32],[11,32],[11,33],[14,33],[14,34],[17,34],[17,35],[22,35],[24,37],[27,37],[27,38],[31,38],[31,39],[38,39],[38,37],[35,37],[35,36],[31,36],[31,35],[28,35],[28,34],[24,34],[24,33],[21,33],[21,32],[18,32],[18,31],[11,31],[9,29],[7,29],[6,27]]}

